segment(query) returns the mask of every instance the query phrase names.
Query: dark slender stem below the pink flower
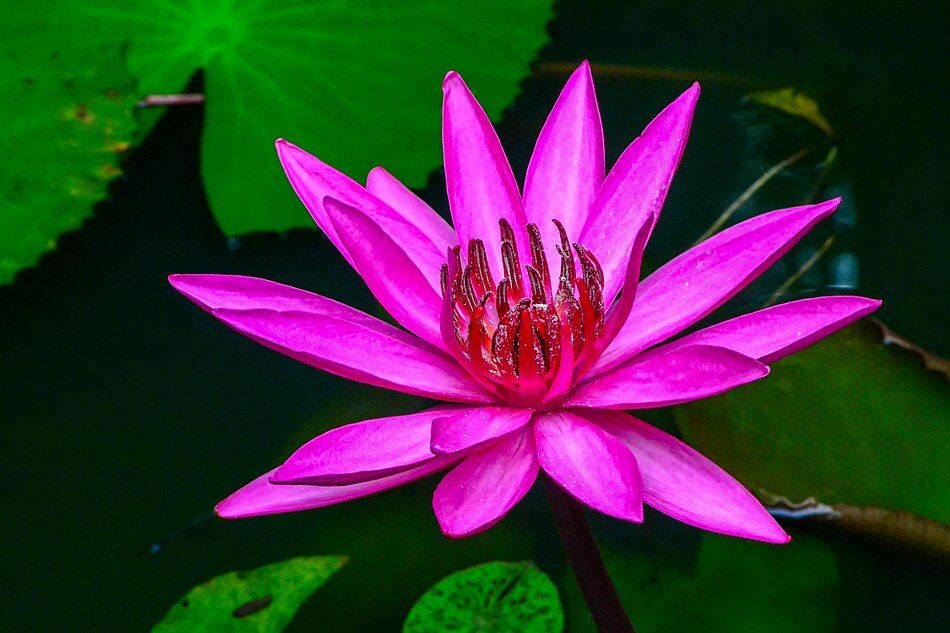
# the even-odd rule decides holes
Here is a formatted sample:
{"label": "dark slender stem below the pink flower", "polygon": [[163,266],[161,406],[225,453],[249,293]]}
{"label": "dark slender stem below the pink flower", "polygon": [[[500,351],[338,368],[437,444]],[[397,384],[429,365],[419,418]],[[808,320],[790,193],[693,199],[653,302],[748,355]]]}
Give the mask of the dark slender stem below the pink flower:
{"label": "dark slender stem below the pink flower", "polygon": [[544,487],[564,551],[571,561],[597,630],[600,633],[635,633],[597,549],[584,507],[548,477],[544,477]]}

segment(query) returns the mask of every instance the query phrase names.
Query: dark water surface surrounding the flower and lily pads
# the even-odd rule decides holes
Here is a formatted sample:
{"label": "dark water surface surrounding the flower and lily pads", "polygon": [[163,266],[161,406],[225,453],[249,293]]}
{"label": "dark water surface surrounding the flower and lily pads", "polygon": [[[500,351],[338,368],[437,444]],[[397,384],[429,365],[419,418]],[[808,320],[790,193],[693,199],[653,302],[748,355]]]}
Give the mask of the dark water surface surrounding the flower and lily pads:
{"label": "dark water surface surrounding the flower and lily pads", "polygon": [[[858,262],[856,291],[883,298],[882,320],[946,354],[945,7],[559,3],[551,43],[500,134],[520,179],[566,78],[545,62],[586,57],[646,68],[595,76],[612,161],[688,85],[649,68],[695,74],[703,95],[650,246],[656,264],[691,244],[763,164],[790,153],[782,151],[787,139],[771,128],[760,138],[743,94],[800,88],[842,134],[825,193],[846,196],[848,220],[819,229],[805,247],[839,231],[830,256]],[[200,77],[192,87],[200,89]],[[440,98],[438,86],[432,98]],[[258,347],[167,285],[172,272],[249,274],[378,310],[316,231],[224,239],[199,177],[201,117],[199,108],[169,111],[129,156],[95,218],[65,236],[38,268],[0,288],[0,627],[146,630],[206,578],[301,554],[346,554],[351,562],[307,603],[293,631],[396,630],[428,586],[486,560],[533,558],[563,586],[569,575],[538,491],[488,534],[460,542],[444,539],[432,516],[435,480],[305,514],[210,519],[216,501],[320,430],[424,403]],[[781,178],[741,217],[799,203],[812,179],[807,170]],[[443,185],[441,173],[433,174],[424,196],[444,211]],[[761,303],[795,257],[721,313]],[[829,291],[829,261],[795,296]],[[643,527],[598,519],[595,529],[614,549],[683,569],[699,544],[696,531],[655,513]],[[839,569],[833,630],[945,627],[945,568],[825,532],[816,536],[831,543]],[[622,575],[624,568],[617,563],[613,571]],[[637,605],[630,610],[636,622]]]}

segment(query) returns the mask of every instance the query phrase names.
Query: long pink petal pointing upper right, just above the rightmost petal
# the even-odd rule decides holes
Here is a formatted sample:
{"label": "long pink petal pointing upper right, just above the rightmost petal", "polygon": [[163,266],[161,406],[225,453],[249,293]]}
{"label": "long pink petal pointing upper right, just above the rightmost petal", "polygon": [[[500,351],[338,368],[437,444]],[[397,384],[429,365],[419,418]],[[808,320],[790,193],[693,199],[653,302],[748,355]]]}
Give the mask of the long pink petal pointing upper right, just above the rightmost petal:
{"label": "long pink petal pointing upper right, just above the rightmost petal", "polygon": [[594,365],[602,372],[703,318],[758,277],[838,206],[772,211],[718,233],[643,280],[617,338]]}

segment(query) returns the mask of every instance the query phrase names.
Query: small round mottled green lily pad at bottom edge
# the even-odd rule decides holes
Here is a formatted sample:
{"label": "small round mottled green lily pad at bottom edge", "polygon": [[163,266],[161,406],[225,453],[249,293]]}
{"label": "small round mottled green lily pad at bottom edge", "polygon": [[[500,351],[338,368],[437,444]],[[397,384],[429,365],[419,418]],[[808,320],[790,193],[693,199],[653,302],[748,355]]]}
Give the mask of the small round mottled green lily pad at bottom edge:
{"label": "small round mottled green lily pad at bottom edge", "polygon": [[531,562],[485,563],[437,582],[412,607],[404,633],[558,633],[557,588]]}

